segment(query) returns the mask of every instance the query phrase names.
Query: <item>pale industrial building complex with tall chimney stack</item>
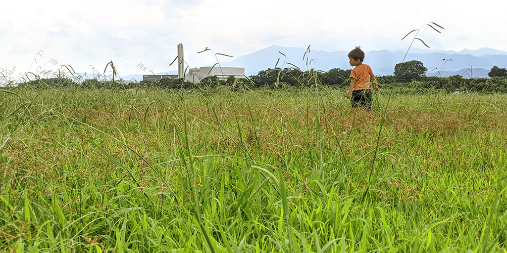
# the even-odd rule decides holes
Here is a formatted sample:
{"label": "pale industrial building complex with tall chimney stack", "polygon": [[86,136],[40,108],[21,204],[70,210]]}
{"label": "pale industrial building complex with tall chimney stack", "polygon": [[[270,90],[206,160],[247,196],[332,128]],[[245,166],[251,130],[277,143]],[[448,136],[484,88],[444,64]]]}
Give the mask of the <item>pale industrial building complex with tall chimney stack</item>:
{"label": "pale industrial building complex with tall chimney stack", "polygon": [[185,61],[183,58],[183,45],[178,45],[178,74],[177,75],[143,75],[143,80],[160,80],[162,78],[183,78],[190,82],[200,82],[202,78],[207,76],[216,76],[219,79],[227,79],[229,76],[242,78],[245,76],[245,68],[236,67],[220,67],[218,64],[212,67],[200,67],[187,70],[185,73]]}

